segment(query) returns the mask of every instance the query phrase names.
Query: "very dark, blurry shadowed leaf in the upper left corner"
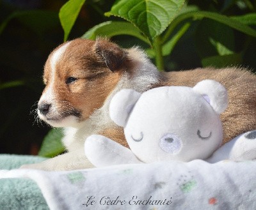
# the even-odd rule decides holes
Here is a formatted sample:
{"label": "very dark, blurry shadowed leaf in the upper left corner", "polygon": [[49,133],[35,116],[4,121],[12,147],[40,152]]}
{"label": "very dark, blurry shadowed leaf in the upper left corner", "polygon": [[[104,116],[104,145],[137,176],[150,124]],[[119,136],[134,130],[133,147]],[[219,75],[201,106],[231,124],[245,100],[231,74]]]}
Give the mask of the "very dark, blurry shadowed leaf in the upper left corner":
{"label": "very dark, blurry shadowed leaf in the upper left corner", "polygon": [[12,19],[18,19],[20,22],[22,22],[22,24],[28,26],[40,36],[44,35],[45,30],[51,29],[52,27],[58,26],[58,24],[60,24],[58,20],[58,13],[55,11],[15,11],[1,23],[0,34],[3,33],[4,28]]}

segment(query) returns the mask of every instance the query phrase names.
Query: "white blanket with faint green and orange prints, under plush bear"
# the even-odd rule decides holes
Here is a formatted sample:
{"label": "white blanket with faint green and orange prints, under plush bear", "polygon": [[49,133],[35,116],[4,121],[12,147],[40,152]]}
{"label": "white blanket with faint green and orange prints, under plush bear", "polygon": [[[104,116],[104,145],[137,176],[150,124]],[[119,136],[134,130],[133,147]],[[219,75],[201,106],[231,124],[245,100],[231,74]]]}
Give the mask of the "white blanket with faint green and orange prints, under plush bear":
{"label": "white blanket with faint green and orange prints, under plush bear", "polygon": [[256,161],[0,171],[10,177],[35,180],[50,209],[256,209]]}

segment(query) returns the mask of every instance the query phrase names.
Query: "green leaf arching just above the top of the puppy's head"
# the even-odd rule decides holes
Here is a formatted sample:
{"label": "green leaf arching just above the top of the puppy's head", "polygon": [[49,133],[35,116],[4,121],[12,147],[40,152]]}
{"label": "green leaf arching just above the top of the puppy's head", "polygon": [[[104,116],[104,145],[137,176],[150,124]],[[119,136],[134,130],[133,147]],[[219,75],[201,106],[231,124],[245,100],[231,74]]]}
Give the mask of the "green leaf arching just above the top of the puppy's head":
{"label": "green leaf arching just above the top of the puppy's head", "polygon": [[89,29],[82,38],[95,40],[97,36],[113,37],[117,35],[131,35],[145,41],[150,45],[150,41],[141,34],[140,30],[129,22],[108,21]]}

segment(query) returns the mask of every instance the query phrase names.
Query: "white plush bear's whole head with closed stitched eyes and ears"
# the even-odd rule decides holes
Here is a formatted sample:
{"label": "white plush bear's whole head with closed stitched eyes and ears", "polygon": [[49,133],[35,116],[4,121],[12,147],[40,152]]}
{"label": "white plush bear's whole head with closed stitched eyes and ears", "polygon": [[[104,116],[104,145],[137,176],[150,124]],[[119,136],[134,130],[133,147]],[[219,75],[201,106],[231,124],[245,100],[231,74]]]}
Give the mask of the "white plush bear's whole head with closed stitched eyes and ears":
{"label": "white plush bear's whole head with closed stitched eyes and ears", "polygon": [[157,87],[142,94],[123,89],[109,111],[141,161],[190,161],[205,159],[220,147],[219,114],[227,101],[225,87],[203,80],[195,87]]}

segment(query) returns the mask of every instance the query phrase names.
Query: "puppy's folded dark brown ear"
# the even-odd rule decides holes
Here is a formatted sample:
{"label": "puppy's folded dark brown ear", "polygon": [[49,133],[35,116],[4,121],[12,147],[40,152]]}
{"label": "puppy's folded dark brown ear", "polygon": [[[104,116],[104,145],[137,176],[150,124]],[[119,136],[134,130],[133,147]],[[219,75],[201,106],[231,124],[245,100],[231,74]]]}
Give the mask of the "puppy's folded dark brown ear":
{"label": "puppy's folded dark brown ear", "polygon": [[127,56],[127,53],[118,45],[102,38],[97,38],[95,41],[95,53],[111,71],[118,70]]}

